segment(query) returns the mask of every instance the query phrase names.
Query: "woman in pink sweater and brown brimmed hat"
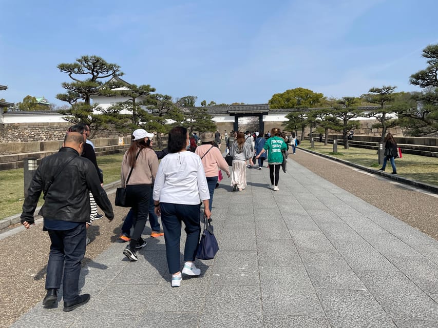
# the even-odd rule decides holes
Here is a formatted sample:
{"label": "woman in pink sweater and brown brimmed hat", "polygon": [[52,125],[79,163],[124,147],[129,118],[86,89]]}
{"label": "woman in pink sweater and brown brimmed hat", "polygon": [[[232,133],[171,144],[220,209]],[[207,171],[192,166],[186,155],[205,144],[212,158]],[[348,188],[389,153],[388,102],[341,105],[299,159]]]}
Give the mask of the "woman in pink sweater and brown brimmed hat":
{"label": "woman in pink sweater and brown brimmed hat", "polygon": [[216,183],[218,182],[219,169],[225,171],[228,177],[230,176],[230,167],[228,167],[219,148],[213,146],[214,140],[215,135],[213,132],[207,131],[202,133],[202,145],[195,150],[195,153],[201,157],[205,177],[207,178],[208,191],[210,192],[210,211],[212,211],[213,194],[215,192]]}

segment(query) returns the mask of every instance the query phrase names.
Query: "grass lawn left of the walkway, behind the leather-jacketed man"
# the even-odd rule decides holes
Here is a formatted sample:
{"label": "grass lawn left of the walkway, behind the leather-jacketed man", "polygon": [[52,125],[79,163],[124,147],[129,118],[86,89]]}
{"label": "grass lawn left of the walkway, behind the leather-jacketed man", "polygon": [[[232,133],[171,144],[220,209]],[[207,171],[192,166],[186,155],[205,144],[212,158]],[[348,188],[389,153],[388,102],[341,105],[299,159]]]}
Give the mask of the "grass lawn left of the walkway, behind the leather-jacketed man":
{"label": "grass lawn left of the walkway, behind the leather-jacketed man", "polygon": [[[120,180],[123,154],[98,156],[104,184]],[[23,169],[0,171],[0,219],[21,213],[24,200]],[[43,204],[41,197],[38,206]]]}

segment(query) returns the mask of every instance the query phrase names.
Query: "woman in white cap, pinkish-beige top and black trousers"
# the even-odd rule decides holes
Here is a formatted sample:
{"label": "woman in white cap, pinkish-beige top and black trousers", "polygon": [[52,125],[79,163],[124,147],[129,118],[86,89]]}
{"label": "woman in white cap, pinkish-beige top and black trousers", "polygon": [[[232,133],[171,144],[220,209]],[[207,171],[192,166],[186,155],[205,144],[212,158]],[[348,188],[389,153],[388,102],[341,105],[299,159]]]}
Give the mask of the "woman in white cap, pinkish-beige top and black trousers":
{"label": "woman in white cap, pinkish-beige top and black trousers", "polygon": [[134,232],[130,236],[123,254],[131,261],[137,261],[137,250],[146,245],[141,238],[147,220],[149,197],[158,171],[158,158],[148,148],[153,133],[137,129],[132,133],[131,146],[123,156],[121,183],[126,187],[126,198],[132,203]]}

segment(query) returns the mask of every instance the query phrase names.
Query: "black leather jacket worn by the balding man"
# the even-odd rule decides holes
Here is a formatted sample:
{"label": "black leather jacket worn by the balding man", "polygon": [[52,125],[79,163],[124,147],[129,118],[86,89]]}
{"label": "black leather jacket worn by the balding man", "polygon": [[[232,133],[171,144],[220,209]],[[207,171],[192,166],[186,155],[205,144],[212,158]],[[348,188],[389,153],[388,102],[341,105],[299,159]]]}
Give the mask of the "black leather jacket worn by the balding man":
{"label": "black leather jacket worn by the balding man", "polygon": [[43,158],[36,169],[23,204],[21,222],[34,222],[33,213],[41,192],[45,194],[45,201],[39,214],[44,219],[87,222],[91,213],[89,191],[105,216],[112,219],[111,203],[93,163],[80,157],[73,148],[63,147],[58,153]]}

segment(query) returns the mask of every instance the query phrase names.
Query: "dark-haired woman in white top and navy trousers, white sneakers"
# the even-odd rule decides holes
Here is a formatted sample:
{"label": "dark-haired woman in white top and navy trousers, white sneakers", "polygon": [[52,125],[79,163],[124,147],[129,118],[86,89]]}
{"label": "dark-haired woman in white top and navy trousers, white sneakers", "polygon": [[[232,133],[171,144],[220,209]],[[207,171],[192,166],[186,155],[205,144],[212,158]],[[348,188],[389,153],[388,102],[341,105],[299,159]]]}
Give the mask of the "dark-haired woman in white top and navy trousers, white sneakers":
{"label": "dark-haired woman in white top and navy trousers, white sneakers", "polygon": [[[208,207],[210,194],[204,167],[198,155],[187,151],[189,145],[186,128],[176,127],[170,130],[167,146],[169,154],[160,162],[154,185],[155,213],[161,215],[172,287],[181,285],[181,273],[189,276],[201,274],[201,270],[196,268],[194,263],[201,234],[201,201],[204,204],[204,215],[207,218],[211,216]],[[184,222],[187,234],[182,271],[181,222]]]}

